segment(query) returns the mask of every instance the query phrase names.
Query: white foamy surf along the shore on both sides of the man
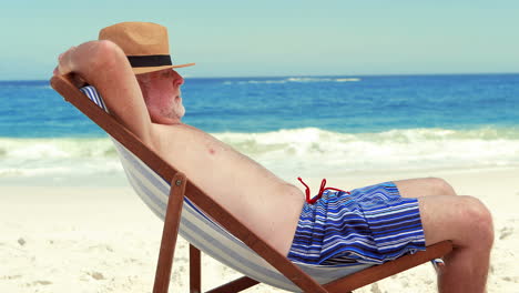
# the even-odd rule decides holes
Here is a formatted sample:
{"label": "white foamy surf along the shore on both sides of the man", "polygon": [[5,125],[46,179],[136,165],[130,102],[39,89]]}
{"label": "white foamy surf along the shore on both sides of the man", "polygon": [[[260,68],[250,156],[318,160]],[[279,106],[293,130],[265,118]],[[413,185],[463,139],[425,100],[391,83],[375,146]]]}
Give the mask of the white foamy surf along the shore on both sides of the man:
{"label": "white foamy surf along the shore on both sides of the man", "polygon": [[[286,176],[374,170],[515,166],[517,128],[339,133],[316,128],[213,133]],[[122,173],[109,139],[0,139],[0,178]]]}

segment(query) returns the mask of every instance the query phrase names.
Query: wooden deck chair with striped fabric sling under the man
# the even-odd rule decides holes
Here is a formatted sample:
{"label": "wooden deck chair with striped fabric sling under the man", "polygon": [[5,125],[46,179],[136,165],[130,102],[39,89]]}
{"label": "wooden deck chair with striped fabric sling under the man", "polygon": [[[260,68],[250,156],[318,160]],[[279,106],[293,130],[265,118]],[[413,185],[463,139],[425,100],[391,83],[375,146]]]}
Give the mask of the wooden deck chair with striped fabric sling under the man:
{"label": "wooden deck chair with striped fabric sling under the man", "polygon": [[110,115],[92,87],[80,90],[67,75],[53,77],[51,85],[112,138],[131,185],[145,204],[164,219],[154,293],[169,290],[179,233],[191,243],[192,293],[201,292],[200,251],[245,275],[206,292],[240,292],[262,282],[292,292],[343,293],[441,257],[452,250],[450,242],[440,242],[426,251],[375,266],[293,263]]}

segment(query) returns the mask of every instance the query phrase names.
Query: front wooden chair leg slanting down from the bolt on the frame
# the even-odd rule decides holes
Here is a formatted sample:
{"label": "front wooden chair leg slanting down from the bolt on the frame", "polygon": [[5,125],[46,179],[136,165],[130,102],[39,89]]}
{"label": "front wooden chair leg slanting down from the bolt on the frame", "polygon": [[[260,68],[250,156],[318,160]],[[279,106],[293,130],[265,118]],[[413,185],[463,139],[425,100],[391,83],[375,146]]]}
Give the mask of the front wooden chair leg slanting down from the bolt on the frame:
{"label": "front wooden chair leg slanting down from the bolt on the frame", "polygon": [[176,236],[179,235],[185,184],[186,178],[184,174],[176,173],[173,176],[164,219],[164,229],[162,231],[162,242],[159,252],[159,262],[156,264],[153,293],[167,293],[170,286],[171,267],[173,266]]}

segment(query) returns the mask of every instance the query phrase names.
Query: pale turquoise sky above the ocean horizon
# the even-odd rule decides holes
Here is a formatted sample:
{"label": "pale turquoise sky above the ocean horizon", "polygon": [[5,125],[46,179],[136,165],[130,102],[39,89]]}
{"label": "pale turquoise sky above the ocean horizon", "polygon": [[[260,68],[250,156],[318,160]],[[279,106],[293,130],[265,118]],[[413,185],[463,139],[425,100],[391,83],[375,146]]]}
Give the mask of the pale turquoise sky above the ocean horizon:
{"label": "pale turquoise sky above the ocean horizon", "polygon": [[189,77],[519,72],[519,1],[19,0],[0,10],[0,80],[120,21],[170,30]]}

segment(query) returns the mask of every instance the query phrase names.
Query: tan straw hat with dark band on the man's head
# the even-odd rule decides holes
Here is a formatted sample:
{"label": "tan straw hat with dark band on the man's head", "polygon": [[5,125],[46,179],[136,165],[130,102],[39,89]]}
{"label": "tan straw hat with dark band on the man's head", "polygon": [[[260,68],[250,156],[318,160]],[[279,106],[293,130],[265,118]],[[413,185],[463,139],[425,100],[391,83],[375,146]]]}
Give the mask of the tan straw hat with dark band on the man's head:
{"label": "tan straw hat with dark band on the man's head", "polygon": [[169,68],[191,67],[194,63],[174,65],[171,61],[167,29],[151,22],[121,22],[99,32],[100,40],[116,43],[128,57],[135,74]]}

